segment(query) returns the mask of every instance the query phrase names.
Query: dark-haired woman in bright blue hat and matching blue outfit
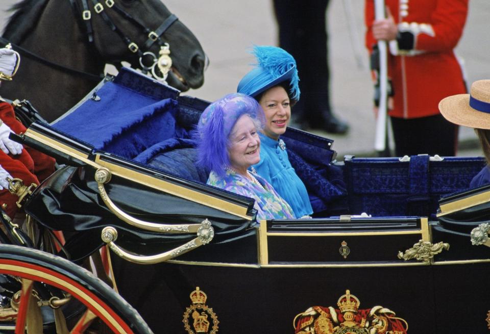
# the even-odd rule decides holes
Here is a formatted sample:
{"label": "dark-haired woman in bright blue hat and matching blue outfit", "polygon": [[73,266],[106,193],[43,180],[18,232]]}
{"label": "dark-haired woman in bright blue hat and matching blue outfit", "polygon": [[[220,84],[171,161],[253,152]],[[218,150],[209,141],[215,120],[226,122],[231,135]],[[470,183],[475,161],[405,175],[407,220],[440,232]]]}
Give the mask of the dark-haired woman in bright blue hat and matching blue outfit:
{"label": "dark-haired woman in bright blue hat and matching blue outfit", "polygon": [[296,217],[307,218],[313,213],[308,192],[279,138],[286,132],[291,106],[300,98],[296,61],[276,46],[254,46],[253,54],[256,67],[243,76],[237,87],[237,92],[254,97],[265,113],[265,125],[259,133],[260,162],[253,167],[291,205]]}

